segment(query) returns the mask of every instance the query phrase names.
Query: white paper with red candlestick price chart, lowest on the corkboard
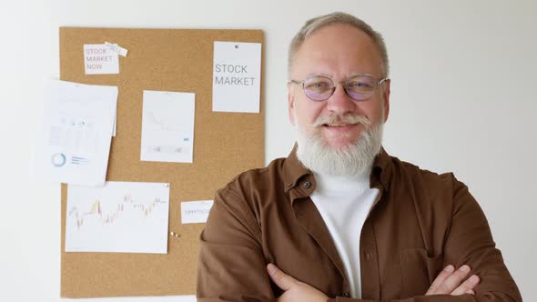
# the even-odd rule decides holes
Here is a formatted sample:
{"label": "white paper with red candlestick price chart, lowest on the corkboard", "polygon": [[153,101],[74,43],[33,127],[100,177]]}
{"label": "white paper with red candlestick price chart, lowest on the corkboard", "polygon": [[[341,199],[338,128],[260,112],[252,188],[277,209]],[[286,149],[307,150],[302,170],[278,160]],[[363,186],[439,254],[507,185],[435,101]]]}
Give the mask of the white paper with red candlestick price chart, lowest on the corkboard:
{"label": "white paper with red candlestick price chart, lowest on the corkboard", "polygon": [[167,254],[169,185],[67,186],[66,252]]}

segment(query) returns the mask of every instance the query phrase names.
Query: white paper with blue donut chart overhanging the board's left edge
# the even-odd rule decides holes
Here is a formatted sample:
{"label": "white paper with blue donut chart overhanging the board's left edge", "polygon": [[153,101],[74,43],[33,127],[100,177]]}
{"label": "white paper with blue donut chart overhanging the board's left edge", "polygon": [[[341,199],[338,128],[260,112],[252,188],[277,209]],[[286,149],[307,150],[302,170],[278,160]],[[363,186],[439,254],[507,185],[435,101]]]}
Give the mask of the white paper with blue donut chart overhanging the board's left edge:
{"label": "white paper with blue donut chart overhanging the board's left edge", "polygon": [[102,186],[116,116],[117,87],[50,80],[32,163],[53,182]]}

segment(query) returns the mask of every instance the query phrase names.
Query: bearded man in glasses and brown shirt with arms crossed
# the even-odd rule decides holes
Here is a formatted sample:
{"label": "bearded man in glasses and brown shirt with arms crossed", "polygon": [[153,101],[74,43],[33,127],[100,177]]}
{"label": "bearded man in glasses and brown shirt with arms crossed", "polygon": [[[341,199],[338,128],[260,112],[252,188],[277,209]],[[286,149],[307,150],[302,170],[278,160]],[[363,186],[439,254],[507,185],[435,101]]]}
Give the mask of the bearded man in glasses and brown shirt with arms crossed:
{"label": "bearded man in glasses and brown shirt with arms crossed", "polygon": [[522,301],[467,187],[381,147],[388,74],[360,19],[304,25],[289,49],[297,146],[218,191],[198,301]]}

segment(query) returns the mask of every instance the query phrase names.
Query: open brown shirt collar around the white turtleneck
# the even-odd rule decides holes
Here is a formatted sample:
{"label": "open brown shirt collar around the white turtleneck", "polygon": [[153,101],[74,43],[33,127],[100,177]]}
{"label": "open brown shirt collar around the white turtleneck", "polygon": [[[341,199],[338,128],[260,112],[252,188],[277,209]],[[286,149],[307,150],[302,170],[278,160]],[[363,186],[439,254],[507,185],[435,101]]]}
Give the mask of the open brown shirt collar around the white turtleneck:
{"label": "open brown shirt collar around the white turtleneck", "polygon": [[[299,161],[297,156],[297,144],[293,146],[289,156],[283,163],[283,176],[285,181],[285,191],[297,186],[299,181],[304,176],[309,176],[311,180],[314,180],[313,173],[309,171]],[[370,174],[370,187],[379,187],[383,190],[387,189],[390,185],[391,176],[391,157],[388,155],[384,147],[380,147],[380,152],[375,156],[373,166]],[[312,184],[315,186],[315,184]]]}

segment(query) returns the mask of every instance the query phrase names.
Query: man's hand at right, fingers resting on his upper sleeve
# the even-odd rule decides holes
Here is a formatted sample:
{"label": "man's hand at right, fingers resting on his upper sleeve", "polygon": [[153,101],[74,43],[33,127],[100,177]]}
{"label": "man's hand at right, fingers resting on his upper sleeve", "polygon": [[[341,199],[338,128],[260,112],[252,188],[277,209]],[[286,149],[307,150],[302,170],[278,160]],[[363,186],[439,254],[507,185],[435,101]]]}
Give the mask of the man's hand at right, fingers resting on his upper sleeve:
{"label": "man's hand at right, fingers resting on his upper sleeve", "polygon": [[434,279],[425,293],[425,296],[431,295],[451,295],[459,296],[463,294],[475,295],[473,288],[476,287],[480,278],[477,275],[471,275],[466,281],[462,282],[470,273],[470,267],[464,265],[455,270],[455,267],[449,265],[442,269],[441,273]]}

